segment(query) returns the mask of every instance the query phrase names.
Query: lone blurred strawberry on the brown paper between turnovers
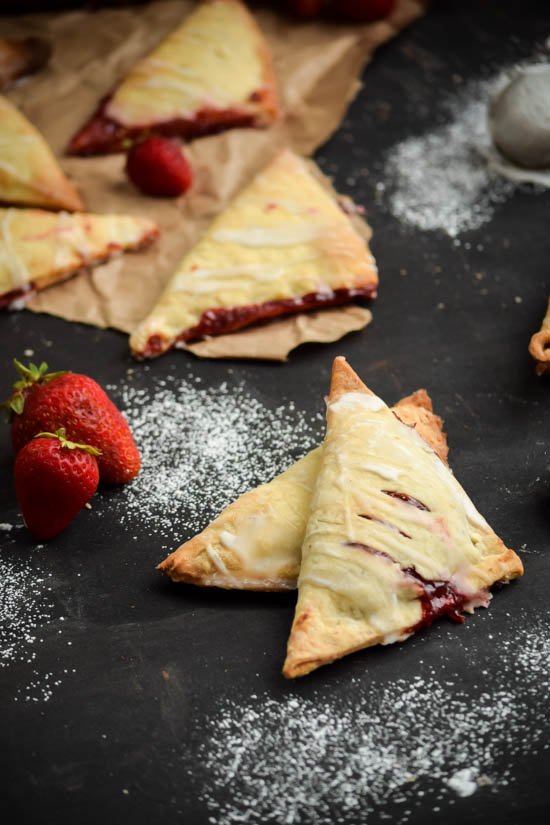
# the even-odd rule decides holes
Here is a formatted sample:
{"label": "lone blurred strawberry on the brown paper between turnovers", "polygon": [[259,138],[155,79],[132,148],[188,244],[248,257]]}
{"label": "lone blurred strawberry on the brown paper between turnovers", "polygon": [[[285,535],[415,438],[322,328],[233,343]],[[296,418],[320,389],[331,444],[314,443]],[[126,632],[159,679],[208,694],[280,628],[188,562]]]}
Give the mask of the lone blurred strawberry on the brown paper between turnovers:
{"label": "lone blurred strawberry on the brown paper between turnovers", "polygon": [[175,198],[191,186],[191,167],[177,143],[149,137],[128,152],[126,174],[146,195]]}

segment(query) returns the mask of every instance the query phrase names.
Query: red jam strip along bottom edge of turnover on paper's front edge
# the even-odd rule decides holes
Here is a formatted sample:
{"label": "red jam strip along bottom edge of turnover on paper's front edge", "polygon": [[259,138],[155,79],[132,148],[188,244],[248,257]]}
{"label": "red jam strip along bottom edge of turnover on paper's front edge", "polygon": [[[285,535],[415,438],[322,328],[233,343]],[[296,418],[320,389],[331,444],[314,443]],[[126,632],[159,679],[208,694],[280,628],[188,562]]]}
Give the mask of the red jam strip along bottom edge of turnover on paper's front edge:
{"label": "red jam strip along bottom edge of turnover on paper's front edge", "polygon": [[[355,298],[375,298],[376,287],[357,289],[335,289],[331,292],[310,292],[301,298],[285,298],[280,301],[266,301],[264,304],[246,304],[241,307],[220,307],[208,309],[201,315],[196,326],[184,330],[177,341],[187,342],[206,335],[222,335],[236,332],[257,321],[267,321],[280,315],[317,309],[318,307],[340,306],[349,304]],[[141,355],[148,357],[158,355],[166,349],[166,342],[160,335],[151,335]]]}

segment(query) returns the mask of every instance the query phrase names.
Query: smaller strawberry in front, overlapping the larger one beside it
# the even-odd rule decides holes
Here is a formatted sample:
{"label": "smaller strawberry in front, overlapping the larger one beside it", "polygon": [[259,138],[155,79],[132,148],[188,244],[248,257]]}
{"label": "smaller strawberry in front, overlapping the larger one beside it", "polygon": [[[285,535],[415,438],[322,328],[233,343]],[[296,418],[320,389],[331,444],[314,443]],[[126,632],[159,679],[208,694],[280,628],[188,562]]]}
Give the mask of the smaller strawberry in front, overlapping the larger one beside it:
{"label": "smaller strawberry in front, overlapping the larger one beside it", "polygon": [[39,433],[15,460],[15,492],[25,523],[36,539],[61,533],[99,484],[99,450],[68,441],[65,430]]}

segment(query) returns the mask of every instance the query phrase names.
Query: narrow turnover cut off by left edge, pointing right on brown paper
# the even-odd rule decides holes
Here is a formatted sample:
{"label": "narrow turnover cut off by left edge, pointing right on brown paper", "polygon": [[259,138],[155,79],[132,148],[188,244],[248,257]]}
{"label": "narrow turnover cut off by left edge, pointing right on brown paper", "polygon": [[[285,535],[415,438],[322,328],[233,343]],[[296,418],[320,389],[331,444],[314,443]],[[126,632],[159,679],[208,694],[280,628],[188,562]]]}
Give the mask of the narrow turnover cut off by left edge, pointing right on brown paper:
{"label": "narrow turnover cut off by left edge, pointing right on brown paper", "polygon": [[0,209],[0,307],[158,235],[148,218]]}

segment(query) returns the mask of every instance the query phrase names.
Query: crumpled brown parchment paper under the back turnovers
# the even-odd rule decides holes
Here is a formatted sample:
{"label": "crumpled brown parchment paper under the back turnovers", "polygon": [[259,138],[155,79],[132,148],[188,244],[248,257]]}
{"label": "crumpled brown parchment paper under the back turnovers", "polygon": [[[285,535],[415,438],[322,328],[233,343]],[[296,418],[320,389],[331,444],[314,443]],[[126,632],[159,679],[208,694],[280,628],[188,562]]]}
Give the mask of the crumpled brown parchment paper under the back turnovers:
{"label": "crumpled brown parchment paper under the back turnovers", "polygon": [[[194,182],[182,198],[163,200],[137,192],[125,177],[123,155],[64,157],[70,137],[99,100],[193,6],[188,0],[159,0],[136,8],[0,20],[2,34],[36,33],[53,42],[47,69],[10,91],[9,97],[60,157],[86,208],[147,215],[161,229],[160,240],[148,250],[126,254],[41,292],[28,303],[30,310],[130,332],[147,315],[179,259],[213,216],[278,149],[290,145],[309,154],[338,127],[359,88],[364,65],[381,43],[424,12],[426,2],[398,0],[387,20],[362,26],[300,24],[258,9],[258,22],[273,53],[285,117],[265,131],[234,129],[190,143],[186,151]],[[190,349],[202,348],[197,354],[203,357],[257,357],[265,353],[269,341],[269,357],[282,360],[304,341],[323,340],[323,335],[328,336],[324,340],[336,340],[337,328],[341,335],[357,329],[359,316],[349,311],[353,309],[274,321],[238,337],[223,336],[217,345],[208,341]],[[364,315],[363,320],[369,319]]]}

